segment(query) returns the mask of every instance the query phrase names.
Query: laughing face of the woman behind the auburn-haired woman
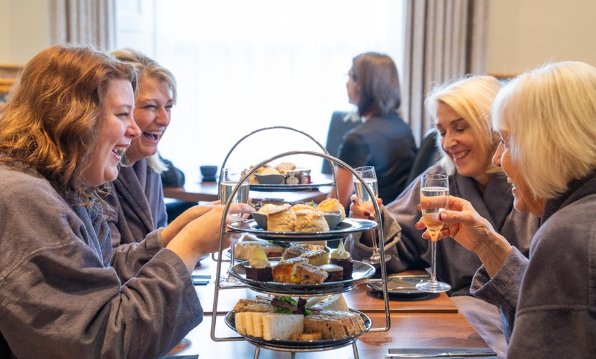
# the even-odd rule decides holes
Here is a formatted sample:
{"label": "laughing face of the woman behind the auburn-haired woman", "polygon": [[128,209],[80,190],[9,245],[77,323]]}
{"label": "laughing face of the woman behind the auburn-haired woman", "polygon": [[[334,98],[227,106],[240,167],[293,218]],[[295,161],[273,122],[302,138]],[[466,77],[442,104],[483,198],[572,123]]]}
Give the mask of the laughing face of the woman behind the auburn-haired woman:
{"label": "laughing face of the woman behind the auburn-haired woman", "polygon": [[142,133],[132,141],[126,153],[126,158],[131,164],[157,153],[158,143],[170,124],[171,109],[174,105],[167,82],[153,77],[143,77],[138,87],[134,119]]}

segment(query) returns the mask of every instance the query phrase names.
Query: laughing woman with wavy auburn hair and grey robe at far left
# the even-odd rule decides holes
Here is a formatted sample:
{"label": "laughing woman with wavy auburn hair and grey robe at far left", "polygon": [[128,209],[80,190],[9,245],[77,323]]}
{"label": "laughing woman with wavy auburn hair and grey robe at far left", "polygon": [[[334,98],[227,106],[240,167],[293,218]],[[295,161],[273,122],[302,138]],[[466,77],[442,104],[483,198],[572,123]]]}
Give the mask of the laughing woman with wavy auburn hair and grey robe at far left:
{"label": "laughing woman with wavy auburn hair and grey robe at far left", "polygon": [[201,323],[190,273],[219,250],[222,206],[112,253],[103,195],[140,135],[137,86],[132,65],[55,45],[0,110],[1,358],[160,358]]}

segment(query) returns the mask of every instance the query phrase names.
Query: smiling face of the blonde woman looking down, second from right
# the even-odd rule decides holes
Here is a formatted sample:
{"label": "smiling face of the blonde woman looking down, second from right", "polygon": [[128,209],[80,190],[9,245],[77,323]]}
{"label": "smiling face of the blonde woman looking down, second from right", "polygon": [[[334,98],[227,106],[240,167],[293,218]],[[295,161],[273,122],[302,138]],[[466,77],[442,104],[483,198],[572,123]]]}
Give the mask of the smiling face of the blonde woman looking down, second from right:
{"label": "smiling face of the blonde woman looking down, second from right", "polygon": [[458,173],[486,186],[491,179],[491,175],[486,173],[486,166],[491,163],[492,153],[482,149],[469,123],[439,101],[436,128],[440,134],[440,145],[455,162]]}

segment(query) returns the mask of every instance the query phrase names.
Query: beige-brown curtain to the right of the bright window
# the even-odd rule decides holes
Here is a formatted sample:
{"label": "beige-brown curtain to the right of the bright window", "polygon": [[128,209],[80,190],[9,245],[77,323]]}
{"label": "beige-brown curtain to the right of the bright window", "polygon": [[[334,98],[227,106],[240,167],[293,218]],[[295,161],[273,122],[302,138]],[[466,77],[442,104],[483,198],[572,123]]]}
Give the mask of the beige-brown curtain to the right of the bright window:
{"label": "beige-brown curtain to the right of the bright window", "polygon": [[489,0],[407,0],[402,112],[420,143],[432,127],[425,94],[435,84],[486,72]]}

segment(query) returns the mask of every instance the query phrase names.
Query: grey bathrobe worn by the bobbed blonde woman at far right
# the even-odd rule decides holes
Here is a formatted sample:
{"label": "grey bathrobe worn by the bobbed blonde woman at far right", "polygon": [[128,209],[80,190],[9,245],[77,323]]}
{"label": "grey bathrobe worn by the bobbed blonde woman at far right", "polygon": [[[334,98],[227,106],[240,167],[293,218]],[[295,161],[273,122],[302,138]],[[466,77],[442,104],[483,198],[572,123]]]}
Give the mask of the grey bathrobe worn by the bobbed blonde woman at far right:
{"label": "grey bathrobe worn by the bobbed blonde woman at far right", "polygon": [[530,260],[514,249],[497,274],[478,270],[473,295],[501,308],[508,358],[596,354],[596,175],[547,201]]}

